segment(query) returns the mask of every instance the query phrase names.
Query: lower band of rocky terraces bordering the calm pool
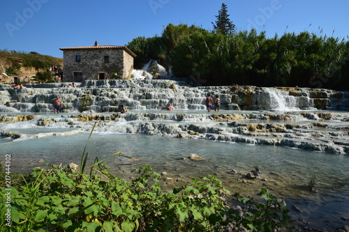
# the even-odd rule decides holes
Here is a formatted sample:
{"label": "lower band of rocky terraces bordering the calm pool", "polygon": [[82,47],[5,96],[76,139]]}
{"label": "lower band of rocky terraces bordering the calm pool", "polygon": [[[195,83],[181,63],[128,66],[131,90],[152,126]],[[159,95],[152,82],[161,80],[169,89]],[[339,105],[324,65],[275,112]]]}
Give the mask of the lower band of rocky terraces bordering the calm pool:
{"label": "lower band of rocky terraces bordering the calm pool", "polygon": [[[288,146],[333,154],[349,154],[348,112],[251,112],[232,114],[128,113],[73,114],[61,117],[0,116],[2,123],[33,122],[36,127],[69,127],[98,131],[209,139],[243,144]],[[121,126],[120,123],[123,123]],[[170,122],[170,123],[169,123]],[[12,136],[2,130],[2,136]],[[20,134],[17,135],[20,137]]]}

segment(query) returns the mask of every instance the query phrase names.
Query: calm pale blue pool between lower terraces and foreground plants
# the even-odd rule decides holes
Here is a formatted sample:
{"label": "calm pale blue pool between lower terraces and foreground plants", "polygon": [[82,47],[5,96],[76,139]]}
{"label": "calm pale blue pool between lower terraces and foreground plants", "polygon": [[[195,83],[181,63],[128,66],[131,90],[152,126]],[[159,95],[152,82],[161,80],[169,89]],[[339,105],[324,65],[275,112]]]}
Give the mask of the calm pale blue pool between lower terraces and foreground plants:
{"label": "calm pale blue pool between lower terraces and foreground plants", "polygon": [[[205,114],[205,111],[201,113]],[[40,117],[53,116],[59,117],[52,114],[41,114]],[[128,126],[126,122],[115,123],[121,127]],[[82,132],[77,127],[36,127],[35,121],[0,124],[0,130],[22,134],[20,139],[0,137],[1,157],[11,155],[12,171],[29,172],[31,167],[45,167],[45,162],[80,164],[87,144],[89,164],[95,157],[101,160],[117,152],[139,160],[112,157],[106,163],[113,172],[119,170],[120,164],[135,164],[132,167],[122,166],[125,171],[149,164],[158,173],[168,173],[163,178],[179,180],[177,183],[214,175],[223,180],[223,185],[232,193],[240,192],[244,196],[257,196],[260,188],[265,187],[285,199],[293,219],[305,219],[316,229],[341,227],[346,224],[343,218],[349,217],[348,155],[281,146],[117,133],[98,128],[88,141],[89,132]],[[191,153],[205,160],[183,159]],[[243,175],[255,167],[260,169],[261,179],[243,183]],[[230,169],[238,173],[232,174]],[[310,192],[307,186],[314,175],[316,192]]]}

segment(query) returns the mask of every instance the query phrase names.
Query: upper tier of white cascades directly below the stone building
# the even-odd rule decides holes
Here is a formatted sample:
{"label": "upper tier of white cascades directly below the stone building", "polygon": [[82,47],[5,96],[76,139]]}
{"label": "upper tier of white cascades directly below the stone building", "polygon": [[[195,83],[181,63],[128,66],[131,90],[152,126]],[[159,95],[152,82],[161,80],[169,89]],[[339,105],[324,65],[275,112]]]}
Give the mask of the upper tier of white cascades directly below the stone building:
{"label": "upper tier of white cascades directly below the stone building", "polygon": [[168,103],[176,110],[205,110],[207,93],[211,93],[214,98],[216,95],[221,98],[221,110],[299,111],[349,108],[349,94],[325,89],[192,87],[186,82],[167,79],[89,80],[78,84],[78,88],[60,88],[59,83],[32,86],[34,88],[13,89],[10,85],[0,85],[0,112],[51,112],[52,99],[56,95],[63,99],[64,113],[116,112],[119,105],[125,105],[128,110],[160,110],[166,109]]}

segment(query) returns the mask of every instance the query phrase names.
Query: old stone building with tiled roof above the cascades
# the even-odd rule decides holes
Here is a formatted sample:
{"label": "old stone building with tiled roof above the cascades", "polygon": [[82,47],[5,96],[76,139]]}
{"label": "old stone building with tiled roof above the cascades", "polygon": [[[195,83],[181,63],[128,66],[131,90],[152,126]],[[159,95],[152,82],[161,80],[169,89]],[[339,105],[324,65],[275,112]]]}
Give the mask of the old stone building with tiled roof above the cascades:
{"label": "old stone building with tiled roof above the cascades", "polygon": [[[82,82],[84,79],[128,79],[133,70],[135,54],[125,46],[98,45],[61,47],[63,79]],[[117,74],[117,75],[115,75]]]}

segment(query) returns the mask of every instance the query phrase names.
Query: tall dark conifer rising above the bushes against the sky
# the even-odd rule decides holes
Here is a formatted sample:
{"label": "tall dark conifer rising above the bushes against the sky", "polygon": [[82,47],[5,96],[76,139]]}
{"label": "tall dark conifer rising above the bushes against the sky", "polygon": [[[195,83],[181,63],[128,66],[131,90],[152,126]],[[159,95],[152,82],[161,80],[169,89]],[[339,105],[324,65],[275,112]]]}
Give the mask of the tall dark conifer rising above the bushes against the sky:
{"label": "tall dark conifer rising above the bushes against the sky", "polygon": [[235,32],[235,24],[229,19],[228,7],[225,3],[222,3],[221,10],[218,11],[216,15],[216,23],[212,22],[214,25],[215,33],[222,33],[223,35],[232,34]]}

